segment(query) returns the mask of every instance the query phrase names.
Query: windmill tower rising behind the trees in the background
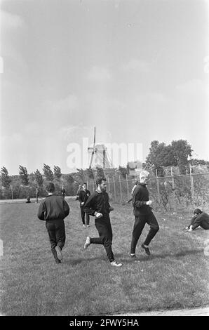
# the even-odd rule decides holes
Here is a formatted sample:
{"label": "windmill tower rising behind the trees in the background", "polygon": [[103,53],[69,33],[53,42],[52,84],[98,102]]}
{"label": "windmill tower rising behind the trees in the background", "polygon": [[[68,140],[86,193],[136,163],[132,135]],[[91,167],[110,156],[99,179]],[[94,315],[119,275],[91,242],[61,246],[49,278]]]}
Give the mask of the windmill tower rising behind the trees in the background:
{"label": "windmill tower rising behind the trees in the background", "polygon": [[[88,147],[90,155],[89,169],[96,166],[102,167],[102,169],[112,169],[113,164],[109,155],[107,154],[107,147],[105,145],[95,144],[96,128],[94,128],[93,147]],[[93,163],[94,160],[94,163]]]}

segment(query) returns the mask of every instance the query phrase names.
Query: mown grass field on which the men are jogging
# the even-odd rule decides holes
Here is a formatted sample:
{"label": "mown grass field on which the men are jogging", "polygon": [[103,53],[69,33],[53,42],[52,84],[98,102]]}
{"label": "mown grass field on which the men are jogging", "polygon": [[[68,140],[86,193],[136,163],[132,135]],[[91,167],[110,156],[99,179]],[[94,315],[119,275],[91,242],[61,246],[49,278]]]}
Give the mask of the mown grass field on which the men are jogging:
{"label": "mown grass field on which the men are jogging", "polygon": [[151,256],[137,245],[140,261],[128,252],[133,229],[131,206],[112,204],[113,251],[122,268],[113,268],[103,246],[83,250],[86,236],[97,236],[94,219],[81,226],[79,203],[69,199],[63,262],[50,252],[39,204],[2,204],[1,315],[111,315],[140,310],[193,308],[209,304],[208,260],[203,251],[209,232],[184,232],[190,214],[156,213],[160,230]]}

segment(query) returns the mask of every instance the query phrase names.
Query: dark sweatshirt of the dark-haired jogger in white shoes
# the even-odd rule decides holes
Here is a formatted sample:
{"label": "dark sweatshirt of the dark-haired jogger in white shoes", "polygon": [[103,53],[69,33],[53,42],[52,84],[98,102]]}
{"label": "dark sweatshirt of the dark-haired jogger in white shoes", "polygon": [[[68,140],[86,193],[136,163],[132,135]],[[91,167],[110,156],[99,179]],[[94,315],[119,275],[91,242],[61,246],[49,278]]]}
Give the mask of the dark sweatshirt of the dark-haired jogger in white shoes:
{"label": "dark sweatshirt of the dark-haired jogger in white shoes", "polygon": [[107,192],[95,190],[95,192],[88,197],[87,202],[84,204],[83,211],[90,216],[95,216],[95,212],[100,212],[102,216],[106,216],[110,212],[110,207]]}

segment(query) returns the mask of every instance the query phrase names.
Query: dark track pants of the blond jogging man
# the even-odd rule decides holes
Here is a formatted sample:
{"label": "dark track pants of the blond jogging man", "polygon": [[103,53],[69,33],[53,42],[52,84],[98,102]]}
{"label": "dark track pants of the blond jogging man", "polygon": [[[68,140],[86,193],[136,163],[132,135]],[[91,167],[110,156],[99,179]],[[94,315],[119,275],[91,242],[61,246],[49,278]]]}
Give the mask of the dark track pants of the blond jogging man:
{"label": "dark track pants of the blond jogging man", "polygon": [[137,242],[140,238],[140,235],[142,234],[142,230],[146,223],[150,226],[150,229],[147,234],[147,238],[144,241],[145,245],[149,245],[149,243],[151,242],[151,239],[153,239],[153,237],[159,231],[159,224],[156,220],[156,217],[154,216],[154,214],[152,212],[147,214],[146,216],[135,216],[132,240],[131,240],[131,244],[130,244],[130,253],[135,253]]}

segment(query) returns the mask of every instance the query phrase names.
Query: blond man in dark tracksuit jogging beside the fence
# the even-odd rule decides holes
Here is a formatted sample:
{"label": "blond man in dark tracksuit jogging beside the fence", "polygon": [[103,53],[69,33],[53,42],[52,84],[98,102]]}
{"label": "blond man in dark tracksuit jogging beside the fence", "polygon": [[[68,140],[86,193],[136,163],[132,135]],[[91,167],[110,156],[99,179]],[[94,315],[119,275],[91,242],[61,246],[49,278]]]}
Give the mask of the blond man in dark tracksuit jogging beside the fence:
{"label": "blond man in dark tracksuit jogging beside the fence", "polygon": [[133,213],[135,216],[135,223],[133,226],[133,235],[130,244],[130,257],[135,258],[135,249],[137,246],[138,239],[142,234],[145,223],[148,223],[150,230],[148,232],[147,238],[142,244],[142,249],[145,250],[147,255],[150,255],[149,243],[151,239],[156,235],[156,232],[159,230],[159,224],[156,220],[156,217],[151,211],[151,203],[149,200],[149,192],[147,190],[147,180],[149,177],[149,172],[142,171],[140,173],[140,183],[135,187],[133,192]]}

